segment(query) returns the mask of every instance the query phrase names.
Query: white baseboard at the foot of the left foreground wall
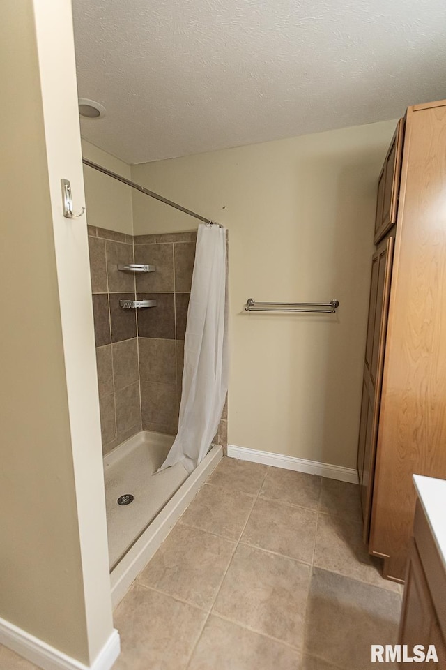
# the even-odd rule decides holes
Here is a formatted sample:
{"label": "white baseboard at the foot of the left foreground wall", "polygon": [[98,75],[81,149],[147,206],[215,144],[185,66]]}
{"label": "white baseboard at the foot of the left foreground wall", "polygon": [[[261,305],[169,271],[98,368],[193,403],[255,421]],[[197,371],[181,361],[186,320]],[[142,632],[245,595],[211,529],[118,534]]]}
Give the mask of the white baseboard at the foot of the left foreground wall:
{"label": "white baseboard at the foot of the left foreground wall", "polygon": [[120,652],[119,634],[114,629],[93,664],[85,665],[2,618],[0,643],[43,670],[110,670]]}

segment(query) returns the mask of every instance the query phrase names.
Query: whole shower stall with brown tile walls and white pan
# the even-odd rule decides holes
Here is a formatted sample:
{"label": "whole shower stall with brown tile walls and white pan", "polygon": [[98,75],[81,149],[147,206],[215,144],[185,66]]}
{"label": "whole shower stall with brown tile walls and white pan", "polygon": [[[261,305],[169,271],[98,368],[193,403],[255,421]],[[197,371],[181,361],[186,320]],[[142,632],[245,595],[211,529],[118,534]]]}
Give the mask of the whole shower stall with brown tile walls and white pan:
{"label": "whole shower stall with brown tile walls and white pan", "polygon": [[[88,195],[86,207],[88,216]],[[157,472],[178,431],[197,231],[131,235],[89,225],[88,236],[116,603],[220,460],[227,405],[191,475],[182,463]]]}

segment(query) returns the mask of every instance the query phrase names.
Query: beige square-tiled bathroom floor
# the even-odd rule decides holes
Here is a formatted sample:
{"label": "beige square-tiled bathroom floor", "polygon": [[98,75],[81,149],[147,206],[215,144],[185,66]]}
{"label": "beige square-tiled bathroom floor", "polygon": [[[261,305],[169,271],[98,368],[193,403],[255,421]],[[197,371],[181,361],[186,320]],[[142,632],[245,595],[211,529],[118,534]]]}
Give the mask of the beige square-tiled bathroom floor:
{"label": "beige square-tiled bathroom floor", "polygon": [[114,670],[371,670],[400,610],[357,486],[226,458],[118,605]]}

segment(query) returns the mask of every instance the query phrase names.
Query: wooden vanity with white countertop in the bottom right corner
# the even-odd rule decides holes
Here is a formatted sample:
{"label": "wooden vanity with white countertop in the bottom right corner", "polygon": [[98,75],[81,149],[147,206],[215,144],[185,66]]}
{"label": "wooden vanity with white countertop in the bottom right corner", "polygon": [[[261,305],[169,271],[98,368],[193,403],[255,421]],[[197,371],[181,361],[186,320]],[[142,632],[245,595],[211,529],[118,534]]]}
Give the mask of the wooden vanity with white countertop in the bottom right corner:
{"label": "wooden vanity with white countertop in the bottom right corner", "polygon": [[[436,647],[438,663],[417,667],[446,668],[446,480],[413,475],[417,491],[410,539],[399,643]],[[406,664],[401,664],[406,667]]]}

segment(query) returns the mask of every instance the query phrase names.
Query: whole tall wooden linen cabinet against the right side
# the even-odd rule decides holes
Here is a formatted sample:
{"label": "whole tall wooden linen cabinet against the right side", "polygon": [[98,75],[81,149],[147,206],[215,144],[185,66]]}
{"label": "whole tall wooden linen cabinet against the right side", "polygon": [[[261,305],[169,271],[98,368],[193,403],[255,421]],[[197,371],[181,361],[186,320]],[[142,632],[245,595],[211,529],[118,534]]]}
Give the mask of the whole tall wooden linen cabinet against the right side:
{"label": "whole tall wooden linen cabinet against the right side", "polygon": [[[385,559],[384,576],[400,582],[415,509],[412,475],[446,478],[446,101],[409,107],[403,135],[401,128],[377,199],[379,237],[399,190],[397,223],[372,264],[357,460],[364,539]],[[398,189],[397,172],[385,175],[401,151],[399,137]]]}

